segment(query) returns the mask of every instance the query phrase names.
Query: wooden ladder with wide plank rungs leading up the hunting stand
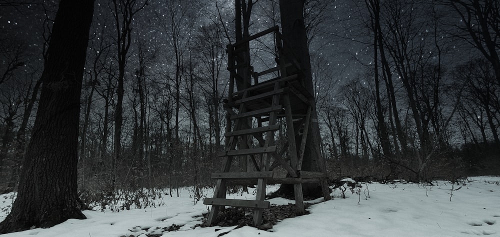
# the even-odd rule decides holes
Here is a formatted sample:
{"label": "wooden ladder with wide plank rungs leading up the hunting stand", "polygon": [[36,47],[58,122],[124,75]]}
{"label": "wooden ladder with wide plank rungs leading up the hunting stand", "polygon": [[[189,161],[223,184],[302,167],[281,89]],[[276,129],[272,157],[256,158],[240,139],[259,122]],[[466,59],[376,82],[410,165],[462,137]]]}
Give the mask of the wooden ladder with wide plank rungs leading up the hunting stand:
{"label": "wooden ladder with wide plank rungs leading up the hunting stand", "polygon": [[[262,220],[263,209],[270,207],[269,201],[264,200],[265,186],[267,179],[273,176],[272,171],[269,171],[269,160],[270,154],[276,152],[274,132],[279,129],[276,120],[279,110],[282,110],[282,106],[279,104],[279,96],[282,91],[279,82],[275,82],[273,91],[266,94],[266,96],[272,97],[271,104],[268,107],[249,111],[245,104],[265,95],[249,96],[250,91],[246,90],[243,92],[241,99],[235,101],[235,105],[239,105],[238,112],[235,113],[232,109],[228,109],[229,113],[231,113],[230,120],[234,121],[234,128],[232,131],[226,132],[225,136],[228,138],[226,149],[219,154],[219,156],[224,158],[222,172],[212,173],[211,175],[212,178],[217,179],[213,198],[205,198],[203,201],[204,204],[212,205],[207,224],[212,224],[215,221],[221,206],[239,206],[255,208],[253,222],[255,225],[258,225]],[[247,127],[248,117],[262,115],[268,116],[268,124],[266,126]],[[265,133],[265,136],[263,133]],[[259,147],[247,148],[245,145],[242,145],[242,143],[247,141],[248,135],[258,137]],[[239,140],[238,137],[240,138]],[[236,147],[238,141],[240,145]],[[255,158],[257,154],[261,156],[260,164],[257,164]],[[247,158],[247,156],[251,157],[254,167],[257,170],[256,172],[229,172],[233,158]],[[236,181],[246,179],[257,179],[255,200],[225,198],[227,180]]]}

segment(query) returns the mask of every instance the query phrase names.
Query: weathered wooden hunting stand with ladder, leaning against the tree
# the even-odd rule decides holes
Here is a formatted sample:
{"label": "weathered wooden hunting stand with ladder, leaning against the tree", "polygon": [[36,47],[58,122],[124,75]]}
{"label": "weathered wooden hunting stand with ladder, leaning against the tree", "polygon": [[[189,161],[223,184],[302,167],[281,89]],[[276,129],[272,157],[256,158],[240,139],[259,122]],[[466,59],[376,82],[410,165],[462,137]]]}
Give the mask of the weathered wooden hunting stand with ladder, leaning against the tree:
{"label": "weathered wooden hunting stand with ladder, leaning against the tree", "polygon": [[[275,38],[277,65],[261,72],[253,71],[248,56],[249,42],[271,33]],[[293,184],[296,214],[301,215],[304,213],[302,183],[321,183],[325,198],[329,198],[329,192],[324,173],[300,171],[314,100],[304,89],[297,59],[283,47],[277,26],[227,45],[227,53],[230,80],[224,105],[228,112],[226,147],[219,154],[224,159],[222,171],[211,175],[217,180],[214,196],[203,201],[212,205],[206,224],[215,222],[220,208],[239,206],[254,208],[253,223],[259,225],[263,209],[270,206],[264,198],[265,186],[271,183]],[[265,75],[277,76],[259,81]],[[235,83],[237,91],[234,91]],[[278,119],[285,120],[287,133],[287,140],[280,147],[274,140],[275,132],[280,129]],[[296,136],[297,133],[301,136]],[[301,140],[295,140],[296,137]],[[246,158],[253,163],[254,171],[231,171],[235,159]],[[286,170],[286,177],[275,177],[273,171],[277,167]],[[227,185],[248,184],[256,184],[255,200],[226,199]]]}

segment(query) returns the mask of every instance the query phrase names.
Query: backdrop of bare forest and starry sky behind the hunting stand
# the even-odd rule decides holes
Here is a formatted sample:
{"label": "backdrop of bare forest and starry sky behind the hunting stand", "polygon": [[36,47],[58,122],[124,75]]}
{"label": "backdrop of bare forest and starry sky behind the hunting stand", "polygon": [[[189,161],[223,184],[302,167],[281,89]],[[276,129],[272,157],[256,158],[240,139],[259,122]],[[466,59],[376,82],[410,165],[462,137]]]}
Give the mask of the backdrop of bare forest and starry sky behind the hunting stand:
{"label": "backdrop of bare forest and starry sky behind the hunting stand", "polygon": [[[241,2],[250,35],[280,26],[278,0]],[[2,193],[18,187],[58,3],[0,0]],[[77,131],[84,203],[184,186],[199,200],[213,185],[234,12],[234,0],[95,0]],[[500,174],[500,1],[305,0],[303,15],[330,179]],[[274,66],[272,40],[250,45],[255,71]]]}

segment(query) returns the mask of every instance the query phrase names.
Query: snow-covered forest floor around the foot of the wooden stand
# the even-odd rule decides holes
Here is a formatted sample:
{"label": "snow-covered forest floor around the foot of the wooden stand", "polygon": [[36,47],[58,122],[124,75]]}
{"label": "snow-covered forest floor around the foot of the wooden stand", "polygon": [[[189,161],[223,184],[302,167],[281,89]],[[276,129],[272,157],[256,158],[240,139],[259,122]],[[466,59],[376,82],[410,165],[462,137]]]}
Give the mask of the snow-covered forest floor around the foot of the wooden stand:
{"label": "snow-covered forest floor around the foot of the wooden stand", "polygon": [[[355,187],[354,193],[347,187],[346,198],[341,198],[342,191],[337,188],[331,193],[334,199],[313,204],[310,214],[284,219],[270,231],[249,226],[193,228],[201,223],[207,206],[202,201],[194,204],[189,190],[182,189],[180,197],[156,198],[154,201],[161,204],[158,207],[119,212],[87,210],[83,212],[87,216],[84,220],[70,219],[51,228],[2,236],[145,237],[161,233],[172,224],[183,226],[164,232],[163,236],[217,236],[231,229],[224,236],[500,236],[500,177],[469,177],[459,185],[447,181],[434,184],[361,183],[362,187]],[[269,186],[267,191],[276,188]],[[251,191],[229,196],[252,199]],[[12,201],[10,196],[0,196],[0,220],[8,211],[5,209]],[[283,198],[270,201],[293,203]]]}

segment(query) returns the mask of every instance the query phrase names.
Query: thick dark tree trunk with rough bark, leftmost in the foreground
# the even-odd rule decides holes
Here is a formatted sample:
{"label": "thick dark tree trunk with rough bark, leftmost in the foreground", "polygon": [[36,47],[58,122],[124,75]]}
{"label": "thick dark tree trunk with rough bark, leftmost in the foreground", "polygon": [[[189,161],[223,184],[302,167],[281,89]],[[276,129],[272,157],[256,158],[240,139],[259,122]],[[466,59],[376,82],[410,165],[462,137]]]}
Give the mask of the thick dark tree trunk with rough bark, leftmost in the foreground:
{"label": "thick dark tree trunk with rough bark, leftmost in the foreground", "polygon": [[61,0],[41,75],[33,134],[17,198],[0,233],[84,219],[77,194],[78,119],[93,0]]}

